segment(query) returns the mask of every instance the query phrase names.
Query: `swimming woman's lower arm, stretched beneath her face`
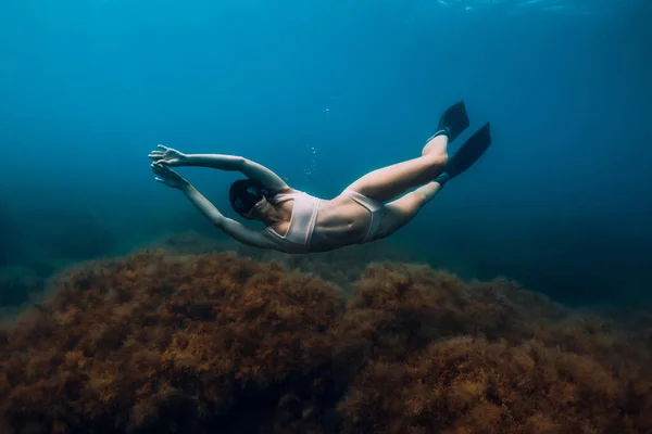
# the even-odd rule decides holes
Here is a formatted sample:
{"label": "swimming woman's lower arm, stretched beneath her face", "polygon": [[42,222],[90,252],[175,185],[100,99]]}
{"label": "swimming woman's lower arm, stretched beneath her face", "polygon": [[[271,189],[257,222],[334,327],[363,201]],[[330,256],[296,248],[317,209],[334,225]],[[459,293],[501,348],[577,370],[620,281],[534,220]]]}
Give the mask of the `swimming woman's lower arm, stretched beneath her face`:
{"label": "swimming woman's lower arm, stretched beneath her face", "polygon": [[174,170],[156,163],[152,163],[152,170],[156,175],[156,181],[180,190],[201,214],[234,240],[254,247],[275,248],[276,245],[265,234],[225,217],[211,201],[205,199],[190,182]]}

